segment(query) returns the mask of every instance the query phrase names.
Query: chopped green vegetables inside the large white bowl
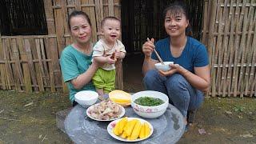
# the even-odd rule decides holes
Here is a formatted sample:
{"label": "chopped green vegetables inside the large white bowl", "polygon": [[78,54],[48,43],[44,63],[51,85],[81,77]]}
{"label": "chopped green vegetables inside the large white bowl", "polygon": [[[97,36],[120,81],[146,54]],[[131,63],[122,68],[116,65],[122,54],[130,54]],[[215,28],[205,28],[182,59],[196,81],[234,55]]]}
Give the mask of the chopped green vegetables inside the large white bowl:
{"label": "chopped green vegetables inside the large white bowl", "polygon": [[135,99],[134,103],[142,106],[158,106],[164,102],[160,98],[140,97]]}

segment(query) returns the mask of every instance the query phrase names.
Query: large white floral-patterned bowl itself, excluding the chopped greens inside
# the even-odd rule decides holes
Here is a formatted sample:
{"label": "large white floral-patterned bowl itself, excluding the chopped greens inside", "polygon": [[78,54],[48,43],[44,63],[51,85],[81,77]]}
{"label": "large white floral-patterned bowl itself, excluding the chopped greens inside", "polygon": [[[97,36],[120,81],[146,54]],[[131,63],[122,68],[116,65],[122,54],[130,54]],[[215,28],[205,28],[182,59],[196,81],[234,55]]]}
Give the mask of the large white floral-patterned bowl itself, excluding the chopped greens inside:
{"label": "large white floral-patterned bowl itself, excluding the chopped greens inside", "polygon": [[[160,98],[164,102],[158,106],[142,106],[134,103],[137,98],[140,97],[151,97],[151,98]],[[158,91],[146,90],[135,93],[131,96],[131,106],[136,114],[143,118],[158,118],[166,112],[166,109],[169,105],[169,98],[166,94],[163,94]]]}

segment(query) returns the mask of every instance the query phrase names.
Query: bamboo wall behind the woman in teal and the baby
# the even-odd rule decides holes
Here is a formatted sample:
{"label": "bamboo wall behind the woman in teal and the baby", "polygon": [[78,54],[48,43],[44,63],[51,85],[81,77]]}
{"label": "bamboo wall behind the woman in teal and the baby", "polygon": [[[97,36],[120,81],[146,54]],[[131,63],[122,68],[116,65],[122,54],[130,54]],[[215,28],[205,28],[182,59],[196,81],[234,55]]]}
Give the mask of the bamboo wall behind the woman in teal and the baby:
{"label": "bamboo wall behind the woman in teal and the baby", "polygon": [[[119,0],[44,0],[48,35],[0,35],[0,89],[67,91],[58,59],[72,42],[67,27],[68,14],[83,10],[89,15],[93,42],[105,16],[120,18]],[[117,66],[117,87],[122,90],[122,63]]]}

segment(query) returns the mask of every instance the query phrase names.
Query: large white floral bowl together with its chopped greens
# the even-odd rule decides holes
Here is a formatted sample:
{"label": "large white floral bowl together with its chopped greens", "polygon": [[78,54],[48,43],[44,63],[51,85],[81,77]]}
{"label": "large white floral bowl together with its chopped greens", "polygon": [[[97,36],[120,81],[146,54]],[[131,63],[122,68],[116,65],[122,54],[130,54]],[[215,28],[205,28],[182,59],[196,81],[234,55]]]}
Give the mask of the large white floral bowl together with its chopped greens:
{"label": "large white floral bowl together with its chopped greens", "polygon": [[158,118],[166,112],[169,98],[154,90],[146,90],[131,96],[131,106],[136,114],[143,118]]}

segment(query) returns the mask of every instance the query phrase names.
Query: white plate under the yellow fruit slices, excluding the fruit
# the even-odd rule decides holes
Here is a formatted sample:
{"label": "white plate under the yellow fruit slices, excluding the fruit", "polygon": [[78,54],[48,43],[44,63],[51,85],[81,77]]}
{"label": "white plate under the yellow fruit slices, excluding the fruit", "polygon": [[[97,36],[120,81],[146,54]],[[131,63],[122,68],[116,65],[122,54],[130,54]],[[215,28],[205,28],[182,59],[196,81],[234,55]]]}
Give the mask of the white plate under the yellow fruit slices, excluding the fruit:
{"label": "white plate under the yellow fruit slices, excluding the fruit", "polygon": [[[147,122],[146,120],[144,120],[144,119],[142,119],[142,118],[128,118],[128,121],[130,121],[130,120],[132,120],[132,119],[138,119],[140,122]],[[144,140],[144,139],[146,139],[146,138],[150,138],[150,135],[152,135],[153,134],[153,126],[150,124],[150,122],[147,122],[148,124],[149,124],[149,126],[150,126],[150,134],[149,134],[149,136],[148,137],[146,137],[146,138],[137,138],[137,139],[134,139],[134,140],[128,140],[128,139],[124,139],[124,138],[121,138],[121,137],[118,137],[117,135],[115,135],[114,133],[113,133],[113,129],[114,129],[114,126],[115,126],[115,124],[117,123],[117,122],[119,122],[121,120],[121,118],[120,119],[117,119],[117,120],[115,120],[115,121],[113,121],[113,122],[110,122],[110,124],[107,126],[107,132],[113,137],[113,138],[116,138],[116,139],[118,139],[119,141],[123,141],[123,142],[138,142],[138,141],[142,141],[142,140]]]}

